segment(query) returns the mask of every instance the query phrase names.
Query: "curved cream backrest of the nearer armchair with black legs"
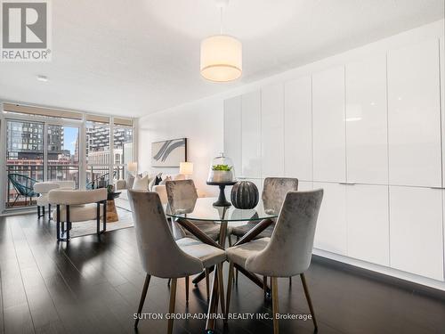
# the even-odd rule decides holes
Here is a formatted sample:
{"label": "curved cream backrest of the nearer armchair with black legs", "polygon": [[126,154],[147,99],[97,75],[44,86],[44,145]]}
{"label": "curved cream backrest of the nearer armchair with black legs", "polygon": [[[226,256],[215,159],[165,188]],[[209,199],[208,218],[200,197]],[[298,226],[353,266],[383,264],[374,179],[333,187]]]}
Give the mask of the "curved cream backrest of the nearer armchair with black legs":
{"label": "curved cream backrest of the nearer armchair with black legs", "polygon": [[48,192],[48,200],[52,204],[80,205],[107,200],[107,189],[93,189],[91,191],[74,191],[70,189],[53,189]]}

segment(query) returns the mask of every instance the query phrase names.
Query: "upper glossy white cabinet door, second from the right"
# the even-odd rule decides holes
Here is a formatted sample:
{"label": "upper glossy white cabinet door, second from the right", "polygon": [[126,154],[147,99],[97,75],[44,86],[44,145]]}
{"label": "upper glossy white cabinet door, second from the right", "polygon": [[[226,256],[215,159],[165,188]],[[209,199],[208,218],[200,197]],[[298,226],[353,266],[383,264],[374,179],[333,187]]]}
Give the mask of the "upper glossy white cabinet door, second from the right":
{"label": "upper glossy white cabinet door, second from the right", "polygon": [[388,183],[386,57],[346,65],[348,182]]}

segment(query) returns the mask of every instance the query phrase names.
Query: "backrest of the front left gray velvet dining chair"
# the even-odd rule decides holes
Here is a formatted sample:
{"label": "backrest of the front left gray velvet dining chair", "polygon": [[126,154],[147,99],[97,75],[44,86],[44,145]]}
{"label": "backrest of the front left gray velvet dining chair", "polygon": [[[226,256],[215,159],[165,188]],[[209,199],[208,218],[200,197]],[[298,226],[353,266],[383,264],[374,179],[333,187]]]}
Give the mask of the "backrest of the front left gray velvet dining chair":
{"label": "backrest of the front left gray velvet dining chair", "polygon": [[162,278],[202,272],[201,261],[184,253],[174,241],[158,193],[129,190],[128,198],[144,271]]}

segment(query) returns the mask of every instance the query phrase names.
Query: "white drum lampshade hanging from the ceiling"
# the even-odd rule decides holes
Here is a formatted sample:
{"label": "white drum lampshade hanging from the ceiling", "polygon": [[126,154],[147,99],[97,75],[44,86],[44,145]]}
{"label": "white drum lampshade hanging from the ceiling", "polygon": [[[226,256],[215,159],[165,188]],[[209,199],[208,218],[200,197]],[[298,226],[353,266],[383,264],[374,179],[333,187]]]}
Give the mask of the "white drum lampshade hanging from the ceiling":
{"label": "white drum lampshade hanging from the ceiling", "polygon": [[242,73],[242,45],[235,37],[217,35],[201,42],[201,75],[207,80],[224,82]]}

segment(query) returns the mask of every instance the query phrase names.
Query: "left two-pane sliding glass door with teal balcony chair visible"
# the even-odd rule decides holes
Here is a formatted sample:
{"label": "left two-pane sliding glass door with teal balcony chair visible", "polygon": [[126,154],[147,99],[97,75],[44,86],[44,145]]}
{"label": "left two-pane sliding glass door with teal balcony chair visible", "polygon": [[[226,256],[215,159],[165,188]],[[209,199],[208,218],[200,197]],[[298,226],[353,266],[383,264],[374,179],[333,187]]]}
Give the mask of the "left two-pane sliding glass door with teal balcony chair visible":
{"label": "left two-pane sliding glass door with teal balcony chair visible", "polygon": [[5,208],[36,205],[36,182],[72,180],[78,188],[78,126],[7,119],[5,143]]}

